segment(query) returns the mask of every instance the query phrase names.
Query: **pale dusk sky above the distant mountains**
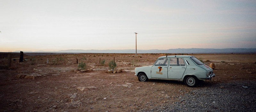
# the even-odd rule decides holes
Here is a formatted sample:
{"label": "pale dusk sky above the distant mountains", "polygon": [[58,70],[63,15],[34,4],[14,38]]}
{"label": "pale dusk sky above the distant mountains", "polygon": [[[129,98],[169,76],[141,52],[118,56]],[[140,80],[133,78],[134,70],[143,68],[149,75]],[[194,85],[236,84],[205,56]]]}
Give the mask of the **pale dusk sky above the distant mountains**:
{"label": "pale dusk sky above the distant mountains", "polygon": [[0,0],[0,52],[256,48],[256,1]]}

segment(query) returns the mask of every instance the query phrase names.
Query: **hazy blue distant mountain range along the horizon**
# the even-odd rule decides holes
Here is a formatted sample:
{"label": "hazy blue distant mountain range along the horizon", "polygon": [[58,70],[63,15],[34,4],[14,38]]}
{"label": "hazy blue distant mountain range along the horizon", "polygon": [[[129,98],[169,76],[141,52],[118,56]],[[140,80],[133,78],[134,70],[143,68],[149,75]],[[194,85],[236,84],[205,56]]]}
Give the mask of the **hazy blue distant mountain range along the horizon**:
{"label": "hazy blue distant mountain range along the horizon", "polygon": [[[20,52],[20,51],[14,51]],[[82,49],[69,49],[61,51],[23,51],[23,52],[56,52],[56,53],[135,53],[135,49],[125,50],[82,50]],[[202,49],[202,48],[190,48],[190,49],[151,49],[151,50],[137,50],[137,53],[256,53],[256,49],[246,48],[230,48],[230,49]]]}

